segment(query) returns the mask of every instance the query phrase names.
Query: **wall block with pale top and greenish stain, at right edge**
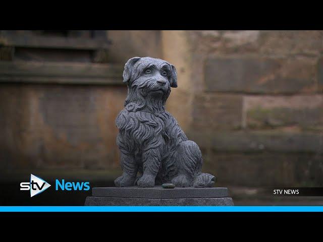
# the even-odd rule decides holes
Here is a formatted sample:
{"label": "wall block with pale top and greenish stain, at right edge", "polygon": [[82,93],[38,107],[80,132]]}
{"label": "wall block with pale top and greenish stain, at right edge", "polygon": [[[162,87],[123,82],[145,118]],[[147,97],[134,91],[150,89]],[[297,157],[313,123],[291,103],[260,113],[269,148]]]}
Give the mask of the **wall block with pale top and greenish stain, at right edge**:
{"label": "wall block with pale top and greenish stain, at right edge", "polygon": [[323,130],[323,95],[245,96],[243,102],[245,128]]}

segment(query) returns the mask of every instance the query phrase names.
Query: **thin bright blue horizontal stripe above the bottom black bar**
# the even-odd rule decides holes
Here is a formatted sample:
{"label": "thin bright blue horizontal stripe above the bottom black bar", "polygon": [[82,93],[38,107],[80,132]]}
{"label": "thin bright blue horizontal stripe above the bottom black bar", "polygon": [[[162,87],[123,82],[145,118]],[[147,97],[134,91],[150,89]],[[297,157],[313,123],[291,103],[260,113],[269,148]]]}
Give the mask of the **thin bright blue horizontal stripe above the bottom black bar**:
{"label": "thin bright blue horizontal stripe above the bottom black bar", "polygon": [[0,206],[0,212],[323,212],[323,206]]}

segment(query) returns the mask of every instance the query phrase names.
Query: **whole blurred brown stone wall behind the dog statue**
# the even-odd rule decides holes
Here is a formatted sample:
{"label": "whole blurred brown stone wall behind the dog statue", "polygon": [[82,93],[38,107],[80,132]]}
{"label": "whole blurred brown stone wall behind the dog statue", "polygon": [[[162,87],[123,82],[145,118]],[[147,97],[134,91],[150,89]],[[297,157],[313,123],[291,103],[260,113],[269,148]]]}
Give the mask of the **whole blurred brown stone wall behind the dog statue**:
{"label": "whole blurred brown stone wall behind the dog statue", "polygon": [[219,186],[323,186],[322,54],[323,31],[1,31],[0,169],[111,185],[123,66],[152,56]]}

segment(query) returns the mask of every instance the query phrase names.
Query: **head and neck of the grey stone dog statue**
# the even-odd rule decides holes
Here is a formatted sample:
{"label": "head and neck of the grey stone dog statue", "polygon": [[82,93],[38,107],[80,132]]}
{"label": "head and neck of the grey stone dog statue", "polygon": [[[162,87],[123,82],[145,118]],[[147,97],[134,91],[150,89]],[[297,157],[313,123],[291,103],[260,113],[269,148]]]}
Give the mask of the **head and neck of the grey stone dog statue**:
{"label": "head and neck of the grey stone dog statue", "polygon": [[129,111],[143,108],[160,111],[165,110],[171,87],[177,87],[177,73],[163,59],[133,57],[125,65],[123,82],[128,85],[125,105]]}

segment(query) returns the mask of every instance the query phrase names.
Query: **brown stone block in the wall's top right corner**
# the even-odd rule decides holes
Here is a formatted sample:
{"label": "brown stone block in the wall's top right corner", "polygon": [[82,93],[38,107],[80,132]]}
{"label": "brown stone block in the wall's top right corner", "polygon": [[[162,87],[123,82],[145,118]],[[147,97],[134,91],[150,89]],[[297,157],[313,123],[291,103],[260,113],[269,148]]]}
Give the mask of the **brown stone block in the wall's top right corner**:
{"label": "brown stone block in the wall's top right corner", "polygon": [[270,55],[315,54],[323,49],[321,30],[262,30],[260,53]]}

